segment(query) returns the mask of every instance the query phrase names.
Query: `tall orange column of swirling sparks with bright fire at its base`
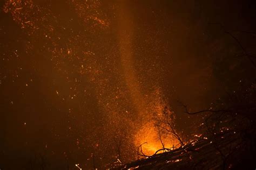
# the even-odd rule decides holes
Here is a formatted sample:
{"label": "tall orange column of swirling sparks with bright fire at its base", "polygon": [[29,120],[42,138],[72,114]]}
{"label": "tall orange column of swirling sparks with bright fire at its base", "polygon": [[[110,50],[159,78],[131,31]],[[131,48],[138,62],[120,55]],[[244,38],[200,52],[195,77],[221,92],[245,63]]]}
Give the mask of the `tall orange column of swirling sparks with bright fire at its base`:
{"label": "tall orange column of swirling sparks with bright fire at its base", "polygon": [[[139,146],[145,143],[143,153],[147,155],[154,154],[157,150],[163,148],[161,144],[159,133],[154,128],[153,114],[160,115],[166,102],[163,101],[163,96],[158,87],[153,91],[147,91],[149,94],[142,93],[142,86],[138,81],[136,68],[134,68],[134,59],[132,53],[133,40],[133,24],[129,10],[126,5],[122,3],[119,9],[119,44],[120,56],[122,62],[123,73],[125,77],[126,86],[132,98],[132,102],[136,107],[139,117],[136,134],[134,135],[134,145]],[[170,148],[177,144],[177,141],[170,137],[161,137],[165,148]]]}

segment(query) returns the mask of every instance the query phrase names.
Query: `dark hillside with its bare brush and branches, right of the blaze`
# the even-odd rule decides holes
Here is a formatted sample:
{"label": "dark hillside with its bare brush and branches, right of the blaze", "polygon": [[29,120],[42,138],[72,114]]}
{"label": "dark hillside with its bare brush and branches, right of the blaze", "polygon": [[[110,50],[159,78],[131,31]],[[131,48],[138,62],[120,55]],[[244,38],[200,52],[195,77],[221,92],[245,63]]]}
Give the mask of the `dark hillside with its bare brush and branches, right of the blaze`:
{"label": "dark hillside with its bare brush and branches, right of the blaze", "polygon": [[[204,114],[204,123],[200,124],[201,134],[183,143],[178,148],[163,148],[165,153],[145,155],[126,165],[113,169],[253,169],[255,167],[255,87],[237,91],[214,108],[190,115]],[[225,103],[225,104],[223,104]],[[159,126],[158,126],[159,127]],[[172,129],[172,128],[171,128]],[[169,131],[166,129],[166,131]],[[159,132],[159,135],[161,133]]]}

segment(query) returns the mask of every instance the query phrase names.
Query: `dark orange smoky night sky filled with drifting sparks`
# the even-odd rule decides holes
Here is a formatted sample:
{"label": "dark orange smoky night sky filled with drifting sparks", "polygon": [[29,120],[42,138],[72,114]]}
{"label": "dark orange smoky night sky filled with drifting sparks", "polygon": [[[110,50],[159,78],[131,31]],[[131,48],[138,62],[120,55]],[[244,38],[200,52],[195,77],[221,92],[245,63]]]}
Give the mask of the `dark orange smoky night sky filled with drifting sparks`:
{"label": "dark orange smoky night sky filled with drifting sparks", "polygon": [[49,169],[88,169],[92,153],[103,166],[119,138],[131,161],[153,112],[169,107],[190,136],[201,117],[185,115],[177,100],[209,107],[255,74],[224,32],[255,53],[254,1],[0,5],[0,168],[36,167],[42,155]]}

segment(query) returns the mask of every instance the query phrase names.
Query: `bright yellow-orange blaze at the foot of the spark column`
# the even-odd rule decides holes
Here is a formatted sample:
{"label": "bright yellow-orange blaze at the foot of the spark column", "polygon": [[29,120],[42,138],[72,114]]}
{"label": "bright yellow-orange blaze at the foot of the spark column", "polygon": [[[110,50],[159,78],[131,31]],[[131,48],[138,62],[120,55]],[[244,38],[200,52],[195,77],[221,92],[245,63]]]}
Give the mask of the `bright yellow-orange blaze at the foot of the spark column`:
{"label": "bright yellow-orange blaze at the foot of the spark column", "polygon": [[[159,134],[153,121],[142,125],[142,128],[138,130],[134,140],[134,145],[138,146],[138,153],[145,155],[153,155],[163,148],[172,149],[173,146],[178,144],[179,141],[176,138]],[[161,152],[164,152],[164,150],[158,153]]]}

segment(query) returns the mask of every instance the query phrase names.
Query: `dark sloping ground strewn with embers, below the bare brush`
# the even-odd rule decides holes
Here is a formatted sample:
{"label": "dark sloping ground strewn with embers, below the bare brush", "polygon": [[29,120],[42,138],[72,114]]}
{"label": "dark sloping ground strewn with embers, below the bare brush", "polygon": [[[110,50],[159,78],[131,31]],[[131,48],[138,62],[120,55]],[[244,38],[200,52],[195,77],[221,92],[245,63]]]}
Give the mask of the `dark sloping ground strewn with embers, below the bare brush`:
{"label": "dark sloping ground strewn with embers, below the bare brush", "polygon": [[200,137],[176,150],[112,169],[253,169],[255,148],[252,151],[245,138],[244,134],[234,132],[224,132],[210,139]]}

